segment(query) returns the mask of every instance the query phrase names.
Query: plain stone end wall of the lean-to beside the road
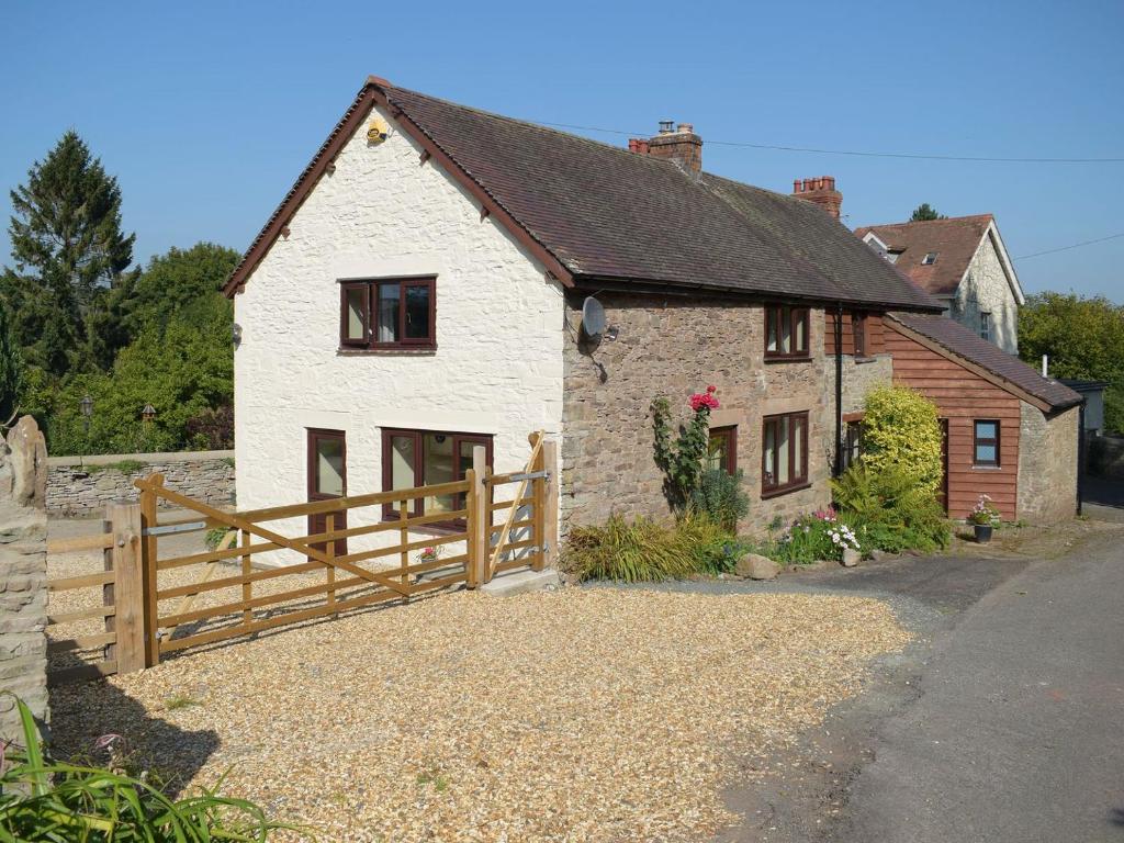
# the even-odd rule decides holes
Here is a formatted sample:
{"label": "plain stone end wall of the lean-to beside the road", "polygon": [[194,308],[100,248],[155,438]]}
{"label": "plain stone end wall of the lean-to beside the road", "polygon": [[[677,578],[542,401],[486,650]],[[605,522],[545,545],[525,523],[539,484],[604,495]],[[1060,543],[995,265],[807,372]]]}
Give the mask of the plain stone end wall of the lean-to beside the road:
{"label": "plain stone end wall of the lean-to beside the road", "polygon": [[1080,408],[1048,418],[1021,402],[1018,517],[1049,524],[1077,513],[1077,427]]}

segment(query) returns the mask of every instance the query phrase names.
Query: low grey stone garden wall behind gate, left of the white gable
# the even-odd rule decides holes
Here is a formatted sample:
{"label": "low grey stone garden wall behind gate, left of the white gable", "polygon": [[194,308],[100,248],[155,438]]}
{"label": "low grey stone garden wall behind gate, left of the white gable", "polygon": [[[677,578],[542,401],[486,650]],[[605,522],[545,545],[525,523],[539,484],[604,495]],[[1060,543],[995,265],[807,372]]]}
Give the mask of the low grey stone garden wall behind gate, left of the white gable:
{"label": "low grey stone garden wall behind gate, left of the white gable", "polygon": [[136,498],[133,481],[154,473],[169,489],[206,504],[234,502],[233,451],[53,456],[47,463],[47,510],[60,515],[100,515],[114,500]]}

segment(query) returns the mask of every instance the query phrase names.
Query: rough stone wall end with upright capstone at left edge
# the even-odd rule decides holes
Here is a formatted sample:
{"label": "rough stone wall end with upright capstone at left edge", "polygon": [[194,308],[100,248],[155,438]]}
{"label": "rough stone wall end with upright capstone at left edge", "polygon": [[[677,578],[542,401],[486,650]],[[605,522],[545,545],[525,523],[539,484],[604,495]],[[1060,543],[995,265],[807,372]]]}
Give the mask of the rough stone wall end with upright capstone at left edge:
{"label": "rough stone wall end with upright capstone at left edge", "polygon": [[[0,689],[47,720],[47,452],[25,416],[0,439]],[[0,740],[20,740],[11,697],[0,698]]]}

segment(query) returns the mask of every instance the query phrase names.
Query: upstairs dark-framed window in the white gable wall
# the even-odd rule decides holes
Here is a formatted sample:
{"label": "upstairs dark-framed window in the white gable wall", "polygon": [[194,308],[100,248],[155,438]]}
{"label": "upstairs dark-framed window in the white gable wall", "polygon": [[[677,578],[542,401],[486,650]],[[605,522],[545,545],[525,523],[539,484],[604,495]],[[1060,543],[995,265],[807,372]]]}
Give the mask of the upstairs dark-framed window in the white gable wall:
{"label": "upstairs dark-framed window in the white gable wall", "polygon": [[436,348],[436,293],[432,275],[341,281],[339,346]]}

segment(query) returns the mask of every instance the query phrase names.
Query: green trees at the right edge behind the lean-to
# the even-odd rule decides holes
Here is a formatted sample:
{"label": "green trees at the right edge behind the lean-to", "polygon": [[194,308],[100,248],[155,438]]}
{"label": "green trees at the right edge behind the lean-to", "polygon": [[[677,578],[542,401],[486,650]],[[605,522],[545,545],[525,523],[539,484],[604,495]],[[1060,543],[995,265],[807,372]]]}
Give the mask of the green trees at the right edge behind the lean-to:
{"label": "green trees at the right edge behind the lean-to", "polygon": [[1041,292],[1018,312],[1018,354],[1055,378],[1108,381],[1105,427],[1124,430],[1124,307],[1103,296]]}

